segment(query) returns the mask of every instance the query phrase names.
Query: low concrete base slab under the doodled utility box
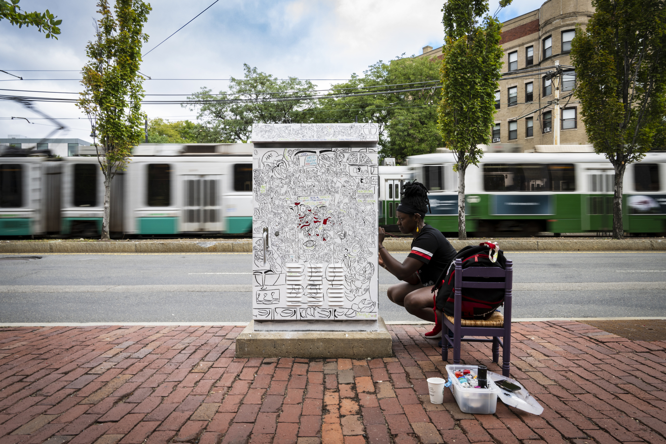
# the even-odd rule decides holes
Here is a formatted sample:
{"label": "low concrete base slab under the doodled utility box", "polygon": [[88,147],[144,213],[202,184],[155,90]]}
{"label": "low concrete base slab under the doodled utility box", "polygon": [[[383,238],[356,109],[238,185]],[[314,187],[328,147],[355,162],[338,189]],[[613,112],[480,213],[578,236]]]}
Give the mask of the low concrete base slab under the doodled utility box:
{"label": "low concrete base slab under the doodled utility box", "polygon": [[[353,322],[353,321],[350,321]],[[390,357],[391,334],[379,318],[376,332],[263,332],[254,321],[236,337],[236,357]]]}

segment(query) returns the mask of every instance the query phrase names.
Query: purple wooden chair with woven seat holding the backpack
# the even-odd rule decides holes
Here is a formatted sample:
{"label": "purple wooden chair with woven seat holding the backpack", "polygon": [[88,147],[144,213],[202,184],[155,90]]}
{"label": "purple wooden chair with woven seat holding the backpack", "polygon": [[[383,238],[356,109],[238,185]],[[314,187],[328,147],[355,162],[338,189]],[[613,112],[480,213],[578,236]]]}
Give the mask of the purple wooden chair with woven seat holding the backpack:
{"label": "purple wooden chair with woven seat holding the backpack", "polygon": [[[500,363],[500,345],[503,351],[501,373],[509,376],[511,360],[511,286],[513,284],[513,262],[506,261],[506,270],[500,267],[470,267],[462,268],[462,260],[456,259],[456,282],[454,316],[442,316],[442,360],[448,361],[448,345],[454,349],[454,364],[460,363],[460,341],[492,342],[493,362]],[[478,282],[469,278],[495,278],[494,281]],[[492,314],[488,320],[462,319],[462,288],[503,288],[504,289],[504,316],[499,312]],[[448,331],[454,332],[454,337]],[[462,338],[462,336],[465,336]],[[472,337],[486,336],[486,338]],[[488,339],[492,336],[492,339]],[[501,339],[500,339],[501,337]]]}

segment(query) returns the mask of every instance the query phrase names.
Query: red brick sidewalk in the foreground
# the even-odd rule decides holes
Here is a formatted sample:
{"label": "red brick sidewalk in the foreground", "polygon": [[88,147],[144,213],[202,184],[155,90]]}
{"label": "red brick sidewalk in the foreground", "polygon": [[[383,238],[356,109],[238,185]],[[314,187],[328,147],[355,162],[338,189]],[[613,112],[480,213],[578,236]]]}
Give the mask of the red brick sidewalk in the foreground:
{"label": "red brick sidewalk in the foreground", "polygon": [[[428,326],[386,359],[235,359],[242,327],[0,329],[0,444],[666,443],[666,342],[578,322],[513,324],[511,377],[540,416],[462,413]],[[464,363],[489,360],[464,343]]]}

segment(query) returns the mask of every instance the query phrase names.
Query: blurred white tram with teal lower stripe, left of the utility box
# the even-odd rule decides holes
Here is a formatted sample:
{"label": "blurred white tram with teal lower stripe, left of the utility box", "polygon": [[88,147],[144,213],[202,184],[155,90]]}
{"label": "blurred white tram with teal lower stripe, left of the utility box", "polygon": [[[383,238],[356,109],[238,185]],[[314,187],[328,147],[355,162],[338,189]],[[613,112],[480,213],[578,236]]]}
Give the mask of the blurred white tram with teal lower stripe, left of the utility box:
{"label": "blurred white tram with teal lower stripe, left of the utility box", "polygon": [[[104,176],[79,156],[0,157],[0,236],[99,236]],[[252,227],[252,144],[141,144],[111,182],[112,234],[243,234]]]}

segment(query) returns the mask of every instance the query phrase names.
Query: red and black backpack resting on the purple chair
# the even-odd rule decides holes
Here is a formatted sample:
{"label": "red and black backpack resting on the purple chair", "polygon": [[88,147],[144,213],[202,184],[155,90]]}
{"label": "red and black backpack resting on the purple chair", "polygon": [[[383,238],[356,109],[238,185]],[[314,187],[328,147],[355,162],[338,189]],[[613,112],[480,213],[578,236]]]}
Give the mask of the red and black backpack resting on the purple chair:
{"label": "red and black backpack resting on the purple chair", "polygon": [[[466,246],[456,254],[448,269],[443,270],[432,288],[436,308],[448,316],[454,316],[454,286],[456,284],[456,259],[462,259],[462,268],[500,267],[506,268],[504,252],[497,244],[483,242],[479,246]],[[488,282],[494,278],[467,278]],[[462,293],[462,317],[485,319],[504,302],[501,288],[464,288]]]}

